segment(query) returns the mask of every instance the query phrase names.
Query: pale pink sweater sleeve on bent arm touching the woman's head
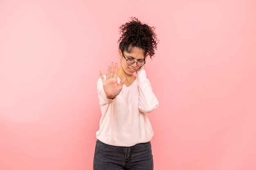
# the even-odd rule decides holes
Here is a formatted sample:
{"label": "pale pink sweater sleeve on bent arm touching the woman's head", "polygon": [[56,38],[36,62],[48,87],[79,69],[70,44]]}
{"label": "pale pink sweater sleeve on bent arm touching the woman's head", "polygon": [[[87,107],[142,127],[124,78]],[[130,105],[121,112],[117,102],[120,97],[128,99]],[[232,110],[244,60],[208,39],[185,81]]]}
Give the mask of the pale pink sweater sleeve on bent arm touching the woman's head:
{"label": "pale pink sweater sleeve on bent arm touching the woman's head", "polygon": [[139,79],[139,110],[143,113],[149,113],[156,109],[159,103],[146,77],[146,71],[140,70],[137,75]]}

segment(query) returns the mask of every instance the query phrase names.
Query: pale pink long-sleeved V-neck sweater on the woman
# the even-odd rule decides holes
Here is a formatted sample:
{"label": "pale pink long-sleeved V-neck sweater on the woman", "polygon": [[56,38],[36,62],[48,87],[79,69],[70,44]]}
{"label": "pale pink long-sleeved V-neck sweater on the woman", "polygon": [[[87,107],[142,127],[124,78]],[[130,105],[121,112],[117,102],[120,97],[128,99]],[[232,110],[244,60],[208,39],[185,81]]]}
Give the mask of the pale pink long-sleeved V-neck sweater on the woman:
{"label": "pale pink long-sleeved V-neck sweater on the woman", "polygon": [[[119,77],[117,82],[120,83]],[[130,86],[123,85],[114,99],[106,97],[101,78],[97,81],[97,89],[102,113],[97,139],[113,146],[133,146],[152,139],[154,132],[147,113],[156,109],[159,103],[145,70],[137,72]]]}

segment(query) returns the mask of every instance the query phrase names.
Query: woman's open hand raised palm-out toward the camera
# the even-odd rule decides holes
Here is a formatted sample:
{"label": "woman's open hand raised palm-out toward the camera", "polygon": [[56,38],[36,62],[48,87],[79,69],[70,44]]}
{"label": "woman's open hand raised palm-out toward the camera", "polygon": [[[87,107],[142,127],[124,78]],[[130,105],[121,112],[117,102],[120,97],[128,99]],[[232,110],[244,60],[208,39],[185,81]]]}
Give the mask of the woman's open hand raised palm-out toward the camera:
{"label": "woman's open hand raised palm-out toward the camera", "polygon": [[117,83],[117,73],[118,73],[118,66],[117,63],[115,64],[115,71],[114,71],[114,64],[111,63],[111,66],[108,66],[107,72],[106,72],[106,80],[101,73],[99,72],[99,75],[101,76],[101,80],[103,83],[103,89],[106,94],[107,98],[113,99],[119,93],[121,92],[121,89],[123,88],[124,81],[126,78],[122,78],[120,81],[120,84]]}

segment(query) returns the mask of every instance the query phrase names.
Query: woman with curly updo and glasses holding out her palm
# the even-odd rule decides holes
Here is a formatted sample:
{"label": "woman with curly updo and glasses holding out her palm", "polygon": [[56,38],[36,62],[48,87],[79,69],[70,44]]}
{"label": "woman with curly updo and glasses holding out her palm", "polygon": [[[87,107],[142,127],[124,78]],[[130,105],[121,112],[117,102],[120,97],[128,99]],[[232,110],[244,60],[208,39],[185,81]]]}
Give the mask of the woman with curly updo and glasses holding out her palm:
{"label": "woman with curly updo and glasses holding out her palm", "polygon": [[154,133],[147,114],[157,108],[158,100],[145,65],[147,57],[155,54],[157,37],[154,27],[137,18],[120,26],[120,33],[120,67],[111,63],[106,76],[99,72],[97,81],[102,116],[93,169],[153,170],[150,140]]}

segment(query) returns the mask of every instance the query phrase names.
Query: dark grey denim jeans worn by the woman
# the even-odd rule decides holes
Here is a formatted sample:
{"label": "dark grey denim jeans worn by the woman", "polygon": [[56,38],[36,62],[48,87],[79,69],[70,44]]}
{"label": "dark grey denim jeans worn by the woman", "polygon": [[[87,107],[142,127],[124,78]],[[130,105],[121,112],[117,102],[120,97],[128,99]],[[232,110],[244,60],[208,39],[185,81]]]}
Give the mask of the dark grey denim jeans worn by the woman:
{"label": "dark grey denim jeans worn by the woman", "polygon": [[124,147],[97,140],[93,170],[153,170],[151,143]]}

